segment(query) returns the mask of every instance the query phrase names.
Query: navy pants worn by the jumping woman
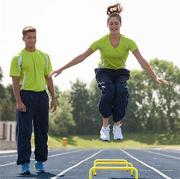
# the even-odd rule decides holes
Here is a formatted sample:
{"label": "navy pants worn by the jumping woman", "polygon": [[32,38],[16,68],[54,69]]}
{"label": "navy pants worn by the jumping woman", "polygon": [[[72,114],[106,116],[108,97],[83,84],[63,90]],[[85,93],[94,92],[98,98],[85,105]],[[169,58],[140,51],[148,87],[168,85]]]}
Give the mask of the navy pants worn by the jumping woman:
{"label": "navy pants worn by the jumping woman", "polygon": [[99,111],[104,118],[113,116],[113,121],[123,119],[128,104],[127,69],[96,68],[96,81],[101,90]]}

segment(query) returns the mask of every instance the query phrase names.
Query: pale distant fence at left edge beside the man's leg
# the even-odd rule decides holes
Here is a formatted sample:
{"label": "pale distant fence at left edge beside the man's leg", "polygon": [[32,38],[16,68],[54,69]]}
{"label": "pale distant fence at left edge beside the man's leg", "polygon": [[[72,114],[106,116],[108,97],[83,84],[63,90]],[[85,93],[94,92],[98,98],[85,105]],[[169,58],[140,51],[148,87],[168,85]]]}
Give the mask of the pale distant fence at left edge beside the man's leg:
{"label": "pale distant fence at left edge beside the man's leg", "polygon": [[0,121],[0,140],[16,140],[16,122]]}

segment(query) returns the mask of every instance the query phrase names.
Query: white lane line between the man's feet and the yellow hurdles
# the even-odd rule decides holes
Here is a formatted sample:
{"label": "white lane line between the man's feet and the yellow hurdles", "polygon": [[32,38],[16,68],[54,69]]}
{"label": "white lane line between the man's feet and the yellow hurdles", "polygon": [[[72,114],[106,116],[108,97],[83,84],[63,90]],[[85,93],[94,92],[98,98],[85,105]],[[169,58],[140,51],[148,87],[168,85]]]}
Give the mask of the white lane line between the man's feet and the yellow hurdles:
{"label": "white lane line between the man's feet and the yellow hurdles", "polygon": [[73,168],[76,168],[77,166],[81,165],[82,163],[86,162],[87,160],[93,158],[94,156],[96,156],[97,154],[101,153],[103,151],[102,150],[99,150],[98,152],[94,153],[93,155],[85,158],[84,160],[81,160],[80,162],[78,162],[77,164],[73,165],[72,167],[69,167],[65,170],[63,170],[62,172],[58,173],[55,177],[51,177],[51,179],[56,179],[58,177],[61,177],[61,176],[64,176],[65,173],[67,173],[68,171],[72,170]]}

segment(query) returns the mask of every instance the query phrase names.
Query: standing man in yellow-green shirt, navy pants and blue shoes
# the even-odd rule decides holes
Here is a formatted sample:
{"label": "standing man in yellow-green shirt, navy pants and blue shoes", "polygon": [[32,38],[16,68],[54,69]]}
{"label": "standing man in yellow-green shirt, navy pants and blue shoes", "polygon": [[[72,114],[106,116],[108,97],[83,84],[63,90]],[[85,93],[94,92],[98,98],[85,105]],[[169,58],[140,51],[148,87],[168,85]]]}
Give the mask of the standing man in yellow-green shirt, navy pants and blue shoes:
{"label": "standing man in yellow-green shirt, navy pants and blue shoes", "polygon": [[49,99],[46,88],[51,95],[51,109],[56,110],[54,86],[50,58],[46,53],[36,49],[36,29],[27,26],[22,31],[25,48],[11,62],[10,76],[17,108],[17,165],[22,166],[21,174],[30,174],[31,134],[34,126],[35,168],[44,172],[43,162],[48,156],[48,116]]}

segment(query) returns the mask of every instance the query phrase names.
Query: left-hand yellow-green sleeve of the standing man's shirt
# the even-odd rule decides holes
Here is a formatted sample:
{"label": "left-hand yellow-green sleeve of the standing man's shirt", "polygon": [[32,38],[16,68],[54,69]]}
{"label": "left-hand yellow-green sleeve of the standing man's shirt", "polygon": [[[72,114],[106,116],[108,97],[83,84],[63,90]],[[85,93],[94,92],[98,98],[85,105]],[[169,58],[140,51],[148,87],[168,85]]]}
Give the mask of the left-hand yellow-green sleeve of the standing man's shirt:
{"label": "left-hand yellow-green sleeve of the standing man's shirt", "polygon": [[10,73],[9,73],[9,76],[10,77],[13,77],[13,76],[16,76],[16,77],[19,77],[20,74],[21,74],[21,57],[14,57],[11,61],[11,65],[10,65]]}

